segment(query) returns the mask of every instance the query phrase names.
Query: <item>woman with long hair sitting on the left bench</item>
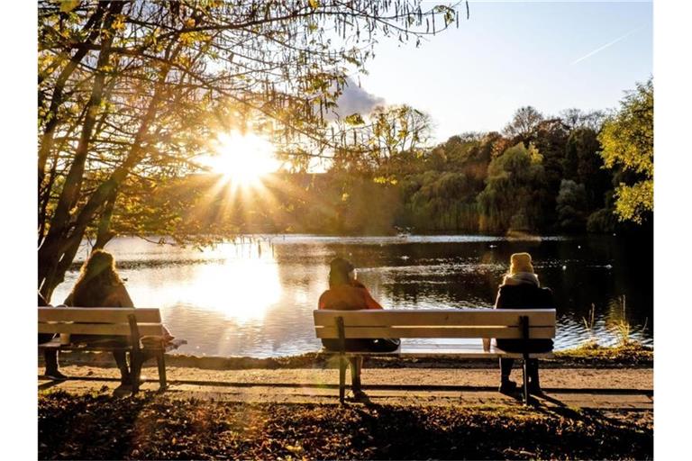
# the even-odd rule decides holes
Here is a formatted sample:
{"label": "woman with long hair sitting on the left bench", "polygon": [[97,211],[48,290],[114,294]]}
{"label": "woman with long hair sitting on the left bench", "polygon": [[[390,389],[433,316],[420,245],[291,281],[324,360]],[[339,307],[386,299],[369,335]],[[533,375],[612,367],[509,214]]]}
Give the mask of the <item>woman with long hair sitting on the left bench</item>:
{"label": "woman with long hair sitting on the left bench", "polygon": [[[77,283],[65,299],[65,304],[72,307],[134,307],[130,294],[123,280],[115,272],[113,255],[103,249],[95,249],[82,266]],[[96,339],[103,339],[103,336]],[[89,335],[73,336],[73,342],[86,342],[95,338]],[[114,336],[108,339],[114,346],[126,345],[127,339]],[[120,368],[121,383],[130,384],[130,370],[127,366],[125,352],[113,352],[115,362]]]}

